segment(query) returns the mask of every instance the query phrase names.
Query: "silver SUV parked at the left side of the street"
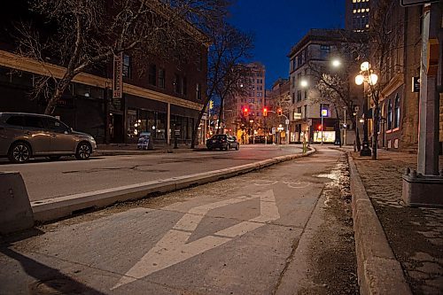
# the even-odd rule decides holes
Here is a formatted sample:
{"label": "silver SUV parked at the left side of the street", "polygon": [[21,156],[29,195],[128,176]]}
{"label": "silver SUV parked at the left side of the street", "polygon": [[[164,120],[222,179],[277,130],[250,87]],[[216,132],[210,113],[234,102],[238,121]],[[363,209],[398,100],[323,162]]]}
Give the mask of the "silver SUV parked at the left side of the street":
{"label": "silver SUV parked at the left side of the street", "polygon": [[57,118],[36,113],[0,113],[0,157],[25,163],[31,157],[74,155],[89,159],[94,137],[76,132]]}

